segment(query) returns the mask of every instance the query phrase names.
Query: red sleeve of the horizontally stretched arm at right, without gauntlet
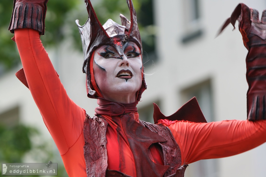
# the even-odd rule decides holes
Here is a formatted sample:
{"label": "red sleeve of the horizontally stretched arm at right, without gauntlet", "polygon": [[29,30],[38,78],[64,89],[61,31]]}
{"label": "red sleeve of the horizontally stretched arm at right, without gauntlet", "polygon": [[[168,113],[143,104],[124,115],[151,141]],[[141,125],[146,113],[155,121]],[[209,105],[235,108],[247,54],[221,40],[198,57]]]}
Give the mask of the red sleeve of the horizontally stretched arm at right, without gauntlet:
{"label": "red sleeve of the horizontally stretched arm at right, without gauntlet", "polygon": [[158,123],[169,127],[173,133],[180,146],[183,165],[236,155],[266,141],[266,120],[193,123],[160,119]]}

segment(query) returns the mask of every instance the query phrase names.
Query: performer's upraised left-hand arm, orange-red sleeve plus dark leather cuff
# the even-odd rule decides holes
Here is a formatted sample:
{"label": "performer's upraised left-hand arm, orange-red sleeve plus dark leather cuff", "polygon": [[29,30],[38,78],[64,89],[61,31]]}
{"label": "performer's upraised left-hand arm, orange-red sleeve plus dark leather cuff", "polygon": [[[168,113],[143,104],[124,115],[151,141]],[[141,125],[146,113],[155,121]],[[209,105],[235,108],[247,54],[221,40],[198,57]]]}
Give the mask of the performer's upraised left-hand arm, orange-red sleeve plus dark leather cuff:
{"label": "performer's upraised left-hand arm, orange-red sleeve plus dark leather cuff", "polygon": [[31,94],[63,155],[82,134],[85,111],[66,94],[41,43],[46,3],[47,0],[15,0],[9,30],[15,33]]}

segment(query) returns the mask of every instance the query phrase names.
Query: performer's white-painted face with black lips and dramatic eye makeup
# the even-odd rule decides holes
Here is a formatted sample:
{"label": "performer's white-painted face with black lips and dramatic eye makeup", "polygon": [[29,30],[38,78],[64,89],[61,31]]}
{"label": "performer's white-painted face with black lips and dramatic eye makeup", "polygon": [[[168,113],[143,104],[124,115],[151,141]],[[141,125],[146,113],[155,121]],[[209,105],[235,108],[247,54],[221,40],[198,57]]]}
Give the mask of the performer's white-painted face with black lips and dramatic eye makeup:
{"label": "performer's white-painted face with black lips and dramatic eye makeup", "polygon": [[110,45],[94,52],[94,78],[105,99],[118,103],[136,101],[136,92],[142,84],[142,58],[138,45],[127,42],[122,46],[123,56]]}

